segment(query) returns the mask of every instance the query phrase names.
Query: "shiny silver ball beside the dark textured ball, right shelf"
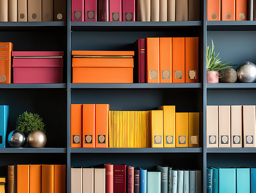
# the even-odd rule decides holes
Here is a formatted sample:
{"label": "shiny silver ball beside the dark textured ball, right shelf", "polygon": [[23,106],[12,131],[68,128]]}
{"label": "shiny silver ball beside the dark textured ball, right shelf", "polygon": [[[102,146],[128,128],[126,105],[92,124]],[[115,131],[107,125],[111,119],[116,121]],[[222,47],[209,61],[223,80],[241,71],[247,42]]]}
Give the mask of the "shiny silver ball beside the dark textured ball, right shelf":
{"label": "shiny silver ball beside the dark textured ball, right shelf", "polygon": [[254,83],[256,81],[256,65],[245,62],[237,69],[238,78],[242,83]]}

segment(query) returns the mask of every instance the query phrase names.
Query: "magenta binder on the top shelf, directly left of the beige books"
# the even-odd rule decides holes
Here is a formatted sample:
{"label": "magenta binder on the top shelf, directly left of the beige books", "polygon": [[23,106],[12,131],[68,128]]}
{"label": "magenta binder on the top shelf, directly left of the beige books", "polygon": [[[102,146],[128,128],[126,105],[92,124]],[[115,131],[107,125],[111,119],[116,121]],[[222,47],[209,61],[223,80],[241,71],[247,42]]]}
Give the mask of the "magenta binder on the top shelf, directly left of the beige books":
{"label": "magenta binder on the top shelf, directly left of the beige books", "polygon": [[135,0],[122,1],[122,21],[135,21]]}

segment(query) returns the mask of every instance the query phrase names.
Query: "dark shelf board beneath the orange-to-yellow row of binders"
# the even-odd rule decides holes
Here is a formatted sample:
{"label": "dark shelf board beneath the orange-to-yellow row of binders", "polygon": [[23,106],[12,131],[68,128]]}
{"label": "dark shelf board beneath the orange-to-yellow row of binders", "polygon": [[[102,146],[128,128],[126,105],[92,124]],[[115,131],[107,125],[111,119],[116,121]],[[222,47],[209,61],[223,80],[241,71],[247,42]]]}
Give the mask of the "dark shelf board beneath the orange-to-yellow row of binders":
{"label": "dark shelf board beneath the orange-to-yellow row of binders", "polygon": [[70,148],[71,153],[201,153],[202,147],[176,148]]}

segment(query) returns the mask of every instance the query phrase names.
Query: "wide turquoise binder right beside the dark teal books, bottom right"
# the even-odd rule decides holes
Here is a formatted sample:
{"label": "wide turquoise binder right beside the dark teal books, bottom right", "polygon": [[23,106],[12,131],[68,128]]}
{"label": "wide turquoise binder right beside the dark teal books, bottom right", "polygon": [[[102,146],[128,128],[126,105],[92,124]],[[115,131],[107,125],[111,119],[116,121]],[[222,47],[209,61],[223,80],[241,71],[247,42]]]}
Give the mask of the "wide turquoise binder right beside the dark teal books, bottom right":
{"label": "wide turquoise binder right beside the dark teal books, bottom right", "polygon": [[236,193],[235,168],[219,168],[219,193]]}

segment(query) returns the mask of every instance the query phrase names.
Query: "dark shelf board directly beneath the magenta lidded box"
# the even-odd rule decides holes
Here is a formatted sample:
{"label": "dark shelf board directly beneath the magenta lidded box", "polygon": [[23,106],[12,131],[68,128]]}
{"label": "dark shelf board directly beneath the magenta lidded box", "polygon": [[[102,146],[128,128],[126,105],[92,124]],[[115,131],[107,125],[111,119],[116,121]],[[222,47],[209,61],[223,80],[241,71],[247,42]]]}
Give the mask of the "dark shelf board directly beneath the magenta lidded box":
{"label": "dark shelf board directly beneath the magenta lidded box", "polygon": [[0,84],[0,88],[67,88],[66,83],[49,83],[49,84]]}

